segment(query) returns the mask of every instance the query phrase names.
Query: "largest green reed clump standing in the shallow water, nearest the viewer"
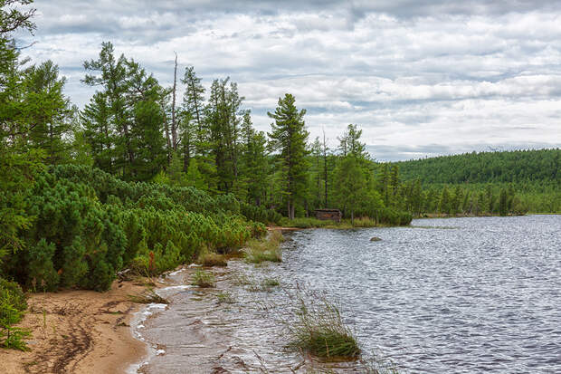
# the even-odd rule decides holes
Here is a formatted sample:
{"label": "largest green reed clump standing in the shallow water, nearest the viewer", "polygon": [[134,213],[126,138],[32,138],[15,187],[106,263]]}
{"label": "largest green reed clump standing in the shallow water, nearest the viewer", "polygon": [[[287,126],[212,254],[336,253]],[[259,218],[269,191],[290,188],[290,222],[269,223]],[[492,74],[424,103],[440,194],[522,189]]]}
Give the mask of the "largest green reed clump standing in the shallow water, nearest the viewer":
{"label": "largest green reed clump standing in the shallow water, nearest the viewer", "polygon": [[318,294],[296,295],[294,319],[287,325],[287,348],[302,350],[325,360],[360,357],[357,338],[344,323],[339,307]]}

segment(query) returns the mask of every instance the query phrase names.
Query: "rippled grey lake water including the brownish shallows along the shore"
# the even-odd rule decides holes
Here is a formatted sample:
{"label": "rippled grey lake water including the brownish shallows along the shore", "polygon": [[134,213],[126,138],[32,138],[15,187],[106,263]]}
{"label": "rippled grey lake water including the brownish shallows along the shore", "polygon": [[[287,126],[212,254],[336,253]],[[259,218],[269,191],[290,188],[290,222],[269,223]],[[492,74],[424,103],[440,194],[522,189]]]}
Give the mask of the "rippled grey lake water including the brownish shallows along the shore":
{"label": "rippled grey lake water including the brownish shallows along the shore", "polygon": [[[166,353],[144,372],[305,372],[283,349],[279,318],[295,284],[338,301],[363,350],[400,372],[561,372],[561,216],[419,219],[290,239],[282,264],[231,261],[216,290],[164,291],[171,305],[138,331]],[[264,278],[281,287],[256,287]]]}

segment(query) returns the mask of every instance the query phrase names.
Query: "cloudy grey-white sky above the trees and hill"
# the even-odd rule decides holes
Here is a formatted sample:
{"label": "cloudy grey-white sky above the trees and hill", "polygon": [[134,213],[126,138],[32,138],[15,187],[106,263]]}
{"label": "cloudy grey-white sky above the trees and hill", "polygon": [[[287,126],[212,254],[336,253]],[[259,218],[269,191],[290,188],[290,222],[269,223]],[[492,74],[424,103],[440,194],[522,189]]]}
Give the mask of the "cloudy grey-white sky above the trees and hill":
{"label": "cloudy grey-white sky above the trees and hill", "polygon": [[[491,5],[489,5],[491,4]],[[35,0],[34,62],[82,106],[82,62],[111,41],[173,81],[230,76],[258,129],[285,92],[311,138],[359,125],[379,160],[561,147],[561,2]],[[25,35],[21,38],[31,39]]]}

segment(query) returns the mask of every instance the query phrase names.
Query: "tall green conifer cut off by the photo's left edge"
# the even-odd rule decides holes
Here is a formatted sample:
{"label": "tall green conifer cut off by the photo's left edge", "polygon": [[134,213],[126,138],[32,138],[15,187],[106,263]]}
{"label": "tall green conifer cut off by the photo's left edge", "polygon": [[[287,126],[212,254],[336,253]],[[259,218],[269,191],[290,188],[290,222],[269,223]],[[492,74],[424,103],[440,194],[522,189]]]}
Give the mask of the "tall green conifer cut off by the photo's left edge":
{"label": "tall green conifer cut off by the photo's left edge", "polygon": [[25,245],[20,230],[33,222],[25,214],[25,197],[33,187],[33,175],[43,168],[43,152],[29,149],[25,141],[34,126],[30,119],[41,110],[42,101],[34,101],[33,106],[28,101],[20,52],[12,35],[18,30],[33,31],[34,9],[19,7],[31,3],[0,0],[0,264],[6,254]]}

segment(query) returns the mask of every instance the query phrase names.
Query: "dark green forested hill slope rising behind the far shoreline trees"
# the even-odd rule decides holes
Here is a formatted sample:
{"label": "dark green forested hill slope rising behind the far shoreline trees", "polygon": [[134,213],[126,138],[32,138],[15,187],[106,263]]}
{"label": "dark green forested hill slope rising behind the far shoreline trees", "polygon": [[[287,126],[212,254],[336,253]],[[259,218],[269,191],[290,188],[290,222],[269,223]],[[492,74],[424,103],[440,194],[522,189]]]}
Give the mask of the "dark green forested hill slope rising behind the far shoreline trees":
{"label": "dark green forested hill slope rising behind the far shoreline trees", "polygon": [[557,182],[561,149],[472,152],[395,162],[404,180],[431,183]]}

